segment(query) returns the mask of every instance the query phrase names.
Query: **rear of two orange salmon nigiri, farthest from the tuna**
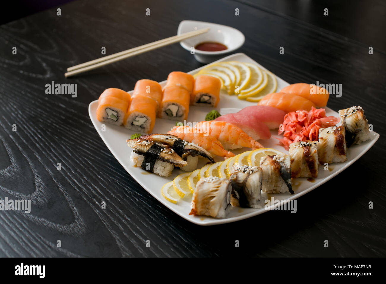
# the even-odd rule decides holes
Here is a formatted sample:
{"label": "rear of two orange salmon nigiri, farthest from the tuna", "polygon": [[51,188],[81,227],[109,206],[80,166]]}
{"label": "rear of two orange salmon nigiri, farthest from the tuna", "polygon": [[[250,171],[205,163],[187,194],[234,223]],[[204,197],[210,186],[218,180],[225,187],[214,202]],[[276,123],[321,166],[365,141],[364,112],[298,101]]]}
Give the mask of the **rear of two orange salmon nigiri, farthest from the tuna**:
{"label": "rear of two orange salmon nigiri, farthest from the tuna", "polygon": [[291,84],[284,87],[280,92],[303,97],[312,101],[317,107],[325,107],[330,96],[325,88],[307,83]]}

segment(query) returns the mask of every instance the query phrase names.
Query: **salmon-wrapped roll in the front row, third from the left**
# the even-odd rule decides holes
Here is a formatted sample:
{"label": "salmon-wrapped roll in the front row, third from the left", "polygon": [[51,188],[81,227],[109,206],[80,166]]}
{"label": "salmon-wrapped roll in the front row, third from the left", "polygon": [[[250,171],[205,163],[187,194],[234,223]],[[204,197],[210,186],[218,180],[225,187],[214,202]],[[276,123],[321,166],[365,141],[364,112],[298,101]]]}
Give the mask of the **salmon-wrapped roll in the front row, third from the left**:
{"label": "salmon-wrapped roll in the front row, third from the left", "polygon": [[161,118],[184,120],[188,118],[190,94],[179,86],[164,88],[159,116]]}

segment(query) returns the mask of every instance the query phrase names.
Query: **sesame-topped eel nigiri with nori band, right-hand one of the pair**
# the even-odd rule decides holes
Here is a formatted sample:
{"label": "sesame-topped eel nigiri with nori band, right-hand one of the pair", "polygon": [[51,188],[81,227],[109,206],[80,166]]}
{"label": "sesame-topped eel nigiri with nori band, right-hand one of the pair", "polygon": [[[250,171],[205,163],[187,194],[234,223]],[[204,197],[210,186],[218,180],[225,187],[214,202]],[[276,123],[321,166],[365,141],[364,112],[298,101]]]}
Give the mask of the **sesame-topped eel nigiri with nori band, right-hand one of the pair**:
{"label": "sesame-topped eel nigiri with nori band, right-hand one of the pair", "polygon": [[186,166],[180,167],[181,170],[186,172],[191,172],[197,168],[198,156],[207,158],[212,163],[215,162],[212,154],[204,148],[194,143],[179,139],[177,136],[171,134],[150,134],[143,135],[140,138],[152,141],[160,146],[173,149],[188,163]]}

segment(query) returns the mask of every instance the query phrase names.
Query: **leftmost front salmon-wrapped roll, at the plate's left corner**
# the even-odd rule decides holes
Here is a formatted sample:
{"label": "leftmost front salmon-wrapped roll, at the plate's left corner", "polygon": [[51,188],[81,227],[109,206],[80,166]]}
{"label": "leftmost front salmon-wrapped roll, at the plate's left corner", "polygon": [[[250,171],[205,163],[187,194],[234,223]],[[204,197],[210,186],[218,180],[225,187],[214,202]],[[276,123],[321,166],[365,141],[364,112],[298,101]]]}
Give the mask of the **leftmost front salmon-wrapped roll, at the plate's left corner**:
{"label": "leftmost front salmon-wrapped roll, at the plate's left corner", "polygon": [[129,102],[116,97],[103,97],[98,101],[97,119],[114,125],[122,125]]}

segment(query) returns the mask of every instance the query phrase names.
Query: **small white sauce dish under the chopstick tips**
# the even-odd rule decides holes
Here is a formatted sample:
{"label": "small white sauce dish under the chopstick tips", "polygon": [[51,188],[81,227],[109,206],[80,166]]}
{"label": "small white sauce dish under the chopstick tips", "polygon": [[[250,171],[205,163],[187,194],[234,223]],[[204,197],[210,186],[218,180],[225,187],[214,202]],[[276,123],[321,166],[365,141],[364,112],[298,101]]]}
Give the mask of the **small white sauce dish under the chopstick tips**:
{"label": "small white sauce dish under the chopstick tips", "polygon": [[223,58],[225,54],[240,48],[245,42],[244,34],[233,27],[200,21],[183,20],[179,23],[177,34],[180,35],[185,32],[205,29],[207,27],[210,28],[208,32],[181,41],[181,46],[191,52],[191,50],[193,50],[192,48],[197,46],[197,44],[206,41],[214,41],[224,44],[227,46],[227,49],[221,51],[202,51],[194,49],[194,57],[198,62],[210,63],[216,61]]}

